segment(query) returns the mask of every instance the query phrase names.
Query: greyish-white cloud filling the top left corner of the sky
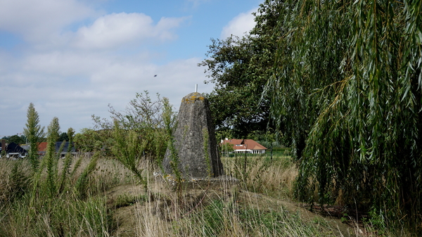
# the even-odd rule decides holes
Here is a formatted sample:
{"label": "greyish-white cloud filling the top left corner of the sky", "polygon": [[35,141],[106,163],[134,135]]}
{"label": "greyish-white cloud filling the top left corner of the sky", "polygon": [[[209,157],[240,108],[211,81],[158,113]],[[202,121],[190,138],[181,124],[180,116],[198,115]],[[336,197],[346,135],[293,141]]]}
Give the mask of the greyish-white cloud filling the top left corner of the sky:
{"label": "greyish-white cloud filling the top left corner of the sky", "polygon": [[0,30],[40,41],[91,15],[94,10],[76,0],[2,0]]}

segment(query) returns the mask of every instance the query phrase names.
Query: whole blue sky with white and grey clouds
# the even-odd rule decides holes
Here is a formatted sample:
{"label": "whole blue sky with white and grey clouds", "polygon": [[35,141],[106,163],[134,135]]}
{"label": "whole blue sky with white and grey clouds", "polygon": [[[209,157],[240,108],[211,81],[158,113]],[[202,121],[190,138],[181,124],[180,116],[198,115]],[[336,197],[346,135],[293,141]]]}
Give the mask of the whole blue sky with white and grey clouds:
{"label": "whole blue sky with white and grey clouds", "polygon": [[[0,138],[41,126],[93,128],[136,93],[212,91],[198,63],[210,39],[242,36],[263,0],[0,0]],[[156,76],[155,76],[156,75]]]}

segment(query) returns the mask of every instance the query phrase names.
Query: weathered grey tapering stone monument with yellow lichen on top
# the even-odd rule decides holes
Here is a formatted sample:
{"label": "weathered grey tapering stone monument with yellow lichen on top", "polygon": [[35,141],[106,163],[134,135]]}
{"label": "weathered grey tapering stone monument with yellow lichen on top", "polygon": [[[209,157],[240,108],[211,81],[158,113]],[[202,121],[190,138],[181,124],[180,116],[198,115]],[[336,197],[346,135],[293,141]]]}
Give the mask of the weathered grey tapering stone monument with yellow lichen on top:
{"label": "weathered grey tapering stone monument with yellow lichen on top", "polygon": [[[207,98],[197,92],[182,98],[173,136],[183,177],[207,178],[224,174]],[[162,162],[167,174],[174,173],[171,162],[170,149],[167,148]]]}

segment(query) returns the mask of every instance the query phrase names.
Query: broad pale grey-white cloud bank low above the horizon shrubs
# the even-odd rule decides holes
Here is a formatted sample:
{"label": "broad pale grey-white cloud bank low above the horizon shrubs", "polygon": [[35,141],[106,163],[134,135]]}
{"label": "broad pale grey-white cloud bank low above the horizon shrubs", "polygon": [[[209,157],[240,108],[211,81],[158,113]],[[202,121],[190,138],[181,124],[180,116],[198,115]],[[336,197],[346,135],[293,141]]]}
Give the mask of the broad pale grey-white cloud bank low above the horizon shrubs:
{"label": "broad pale grey-white cloud bank low above the horizon shrubs", "polygon": [[0,117],[0,124],[13,124],[13,130],[20,131],[32,102],[43,126],[58,117],[63,130],[73,127],[79,132],[91,126],[91,115],[108,117],[108,104],[124,110],[136,92],[148,90],[153,98],[158,92],[178,109],[181,98],[193,92],[195,84],[199,92],[212,90],[212,84],[203,84],[206,77],[197,66],[200,58],[165,65],[151,63],[148,58],[143,54],[120,58],[113,53],[73,51],[27,56],[19,63],[21,68],[0,72],[4,82],[0,109],[14,116]]}

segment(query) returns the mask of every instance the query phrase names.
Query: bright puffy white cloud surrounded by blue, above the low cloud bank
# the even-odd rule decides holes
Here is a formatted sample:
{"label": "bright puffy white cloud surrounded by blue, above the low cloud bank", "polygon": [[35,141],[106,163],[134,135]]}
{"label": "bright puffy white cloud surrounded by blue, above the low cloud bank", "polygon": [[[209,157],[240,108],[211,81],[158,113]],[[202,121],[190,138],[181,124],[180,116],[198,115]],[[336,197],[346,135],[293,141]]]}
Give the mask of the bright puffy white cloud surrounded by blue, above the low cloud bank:
{"label": "bright puffy white cloud surrounded by blue, above the low cloud bank", "polygon": [[157,25],[143,13],[112,13],[95,20],[75,33],[74,45],[82,49],[108,49],[145,39],[174,39],[174,27],[186,18],[161,18]]}

